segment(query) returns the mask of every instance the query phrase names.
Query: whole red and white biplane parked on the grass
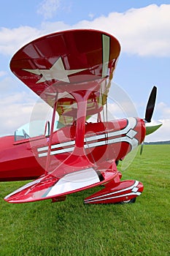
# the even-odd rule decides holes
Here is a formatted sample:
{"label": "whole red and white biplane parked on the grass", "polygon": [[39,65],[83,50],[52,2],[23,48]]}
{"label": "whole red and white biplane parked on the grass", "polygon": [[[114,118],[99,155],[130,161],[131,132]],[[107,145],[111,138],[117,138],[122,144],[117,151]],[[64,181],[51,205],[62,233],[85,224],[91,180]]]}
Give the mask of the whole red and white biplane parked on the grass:
{"label": "whole red and white biplane parked on the grass", "polygon": [[[156,87],[144,119],[104,120],[119,54],[115,37],[92,29],[49,34],[15,53],[12,72],[53,108],[53,116],[40,135],[31,135],[23,126],[15,135],[0,138],[0,181],[35,178],[4,200],[57,202],[99,185],[104,188],[85,203],[128,203],[142,193],[141,182],[121,181],[117,163],[144,141]],[[95,122],[90,121],[92,116]],[[151,125],[147,133],[160,125]]]}

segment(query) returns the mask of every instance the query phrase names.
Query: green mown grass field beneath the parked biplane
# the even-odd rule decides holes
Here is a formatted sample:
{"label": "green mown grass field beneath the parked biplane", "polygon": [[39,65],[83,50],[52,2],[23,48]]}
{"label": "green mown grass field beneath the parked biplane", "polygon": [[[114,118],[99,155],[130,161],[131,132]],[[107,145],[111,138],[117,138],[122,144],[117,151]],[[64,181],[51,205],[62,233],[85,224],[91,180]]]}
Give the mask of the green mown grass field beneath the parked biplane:
{"label": "green mown grass field beneath the parked biplane", "polygon": [[45,200],[9,204],[5,195],[26,182],[0,184],[0,256],[170,255],[170,145],[144,146],[123,172],[144,192],[134,204],[84,205],[98,188]]}

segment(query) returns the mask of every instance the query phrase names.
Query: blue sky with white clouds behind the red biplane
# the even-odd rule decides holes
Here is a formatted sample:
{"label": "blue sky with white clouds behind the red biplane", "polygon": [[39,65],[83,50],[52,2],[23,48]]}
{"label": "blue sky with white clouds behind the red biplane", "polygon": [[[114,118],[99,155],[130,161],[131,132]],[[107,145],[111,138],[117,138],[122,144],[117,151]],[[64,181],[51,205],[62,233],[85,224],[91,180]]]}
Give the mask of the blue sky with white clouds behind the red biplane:
{"label": "blue sky with white clouds behind the red biplane", "polygon": [[36,37],[64,29],[101,29],[120,41],[114,81],[144,117],[153,85],[154,120],[163,127],[147,140],[170,140],[170,4],[146,0],[6,0],[0,10],[0,136],[29,120],[36,96],[9,70],[12,55]]}

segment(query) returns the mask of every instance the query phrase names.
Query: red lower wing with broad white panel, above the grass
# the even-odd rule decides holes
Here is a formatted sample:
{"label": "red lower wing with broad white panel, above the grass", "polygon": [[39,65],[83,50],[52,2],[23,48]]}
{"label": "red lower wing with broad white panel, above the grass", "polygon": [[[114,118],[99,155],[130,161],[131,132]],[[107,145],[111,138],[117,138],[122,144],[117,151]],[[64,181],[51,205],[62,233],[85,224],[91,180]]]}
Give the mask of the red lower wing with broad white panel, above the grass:
{"label": "red lower wing with broad white panel, above the grass", "polygon": [[28,203],[50,198],[57,201],[68,194],[109,182],[118,175],[115,162],[108,170],[102,171],[90,167],[67,173],[62,178],[47,173],[7,195],[4,200],[9,203]]}

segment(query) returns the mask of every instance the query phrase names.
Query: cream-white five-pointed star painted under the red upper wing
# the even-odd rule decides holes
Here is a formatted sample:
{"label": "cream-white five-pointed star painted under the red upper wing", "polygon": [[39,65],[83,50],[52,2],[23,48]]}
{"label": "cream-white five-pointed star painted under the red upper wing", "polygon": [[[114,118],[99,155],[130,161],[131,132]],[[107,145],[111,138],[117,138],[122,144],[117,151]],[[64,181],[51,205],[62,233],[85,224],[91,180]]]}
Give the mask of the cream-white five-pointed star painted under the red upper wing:
{"label": "cream-white five-pointed star painted under the red upper wing", "polygon": [[35,75],[42,75],[42,78],[40,78],[36,83],[42,83],[47,80],[61,80],[63,82],[70,83],[68,75],[75,74],[77,72],[81,72],[85,69],[69,69],[66,70],[63,66],[63,61],[61,57],[55,61],[52,67],[50,69],[23,69],[27,72],[31,72]]}

